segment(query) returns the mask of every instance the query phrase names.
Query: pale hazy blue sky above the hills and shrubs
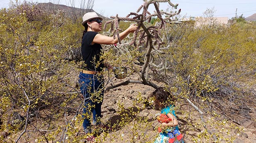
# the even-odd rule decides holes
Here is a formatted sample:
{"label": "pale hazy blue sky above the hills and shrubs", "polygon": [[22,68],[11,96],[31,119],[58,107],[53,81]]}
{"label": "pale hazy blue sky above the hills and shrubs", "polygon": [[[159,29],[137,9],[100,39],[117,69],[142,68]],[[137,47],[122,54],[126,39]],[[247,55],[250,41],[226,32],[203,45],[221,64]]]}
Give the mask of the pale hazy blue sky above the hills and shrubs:
{"label": "pale hazy blue sky above the hills and shrubs", "polygon": [[[15,1],[15,0],[12,0]],[[23,0],[18,0],[22,2]],[[52,2],[55,4],[62,4],[71,6],[71,2],[75,7],[80,8],[82,0],[26,0],[27,2]],[[87,1],[87,0],[86,0]],[[256,13],[256,0],[171,0],[173,4],[179,4],[177,9],[181,9],[180,17],[197,17],[205,16],[204,12],[207,9],[212,9],[216,17],[229,17],[231,19],[235,16],[244,18]],[[0,9],[7,8],[10,0],[0,0]],[[130,12],[137,12],[137,9],[144,4],[143,0],[95,0],[93,10],[103,16],[125,17]],[[160,3],[160,9],[166,10],[171,8],[167,2]],[[154,6],[149,7],[149,12],[154,13]],[[141,14],[142,10],[138,12]]]}

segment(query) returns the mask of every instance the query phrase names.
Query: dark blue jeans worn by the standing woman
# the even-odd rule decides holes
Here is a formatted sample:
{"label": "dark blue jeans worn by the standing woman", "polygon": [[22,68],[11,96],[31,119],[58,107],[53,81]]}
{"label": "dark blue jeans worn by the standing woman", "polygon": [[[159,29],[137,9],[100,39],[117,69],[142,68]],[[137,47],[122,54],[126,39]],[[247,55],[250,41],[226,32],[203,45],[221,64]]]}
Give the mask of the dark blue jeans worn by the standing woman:
{"label": "dark blue jeans worn by the standing woman", "polygon": [[79,85],[83,94],[85,105],[83,108],[83,129],[90,131],[90,115],[93,113],[93,120],[101,117],[101,105],[104,95],[104,77],[102,75],[85,74],[80,72]]}

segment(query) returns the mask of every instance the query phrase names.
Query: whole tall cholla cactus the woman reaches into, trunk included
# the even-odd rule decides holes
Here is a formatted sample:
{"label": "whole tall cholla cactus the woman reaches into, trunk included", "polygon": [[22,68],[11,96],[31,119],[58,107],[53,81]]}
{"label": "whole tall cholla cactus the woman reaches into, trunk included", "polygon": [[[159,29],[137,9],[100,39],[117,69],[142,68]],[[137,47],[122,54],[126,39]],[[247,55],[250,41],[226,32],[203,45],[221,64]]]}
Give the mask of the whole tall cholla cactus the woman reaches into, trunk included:
{"label": "whole tall cholla cactus the woman reaches into, trunk included", "polygon": [[[110,32],[115,36],[117,36],[119,44],[121,44],[119,40],[119,21],[131,21],[133,23],[137,23],[137,30],[134,32],[132,40],[129,42],[129,45],[133,45],[138,49],[138,51],[146,51],[144,58],[144,65],[142,66],[141,76],[142,83],[145,85],[149,85],[151,87],[157,88],[157,86],[146,80],[147,71],[149,68],[149,61],[151,59],[151,52],[153,49],[159,51],[161,45],[163,45],[163,41],[161,40],[160,29],[165,26],[165,23],[171,21],[171,17],[180,13],[180,9],[178,12],[168,13],[159,10],[160,2],[168,2],[171,7],[177,8],[178,4],[174,5],[170,0],[144,0],[144,4],[141,5],[137,12],[131,12],[126,17],[119,17],[118,14],[116,16],[111,16],[113,20],[107,21],[105,23],[104,29],[107,27],[107,24],[111,24]],[[149,5],[154,5],[156,11],[151,14],[148,11]],[[141,12],[142,10],[142,12]],[[141,13],[139,13],[141,12]],[[130,16],[134,16],[130,18]],[[161,20],[160,24],[156,26],[151,26],[147,23],[151,21],[152,17],[157,16],[158,19]],[[147,70],[146,70],[147,69]]]}

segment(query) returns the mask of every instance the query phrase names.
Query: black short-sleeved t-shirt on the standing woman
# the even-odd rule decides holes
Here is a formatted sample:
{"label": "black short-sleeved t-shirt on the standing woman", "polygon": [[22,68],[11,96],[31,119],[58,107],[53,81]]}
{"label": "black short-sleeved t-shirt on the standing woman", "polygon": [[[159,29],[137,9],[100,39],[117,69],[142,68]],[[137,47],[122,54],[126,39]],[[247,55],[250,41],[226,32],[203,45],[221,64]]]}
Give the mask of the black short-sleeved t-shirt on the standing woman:
{"label": "black short-sleeved t-shirt on the standing woman", "polygon": [[103,60],[100,61],[101,45],[97,43],[92,45],[93,39],[97,34],[97,32],[88,31],[83,35],[81,52],[85,64],[85,66],[82,66],[84,70],[102,71],[104,68]]}

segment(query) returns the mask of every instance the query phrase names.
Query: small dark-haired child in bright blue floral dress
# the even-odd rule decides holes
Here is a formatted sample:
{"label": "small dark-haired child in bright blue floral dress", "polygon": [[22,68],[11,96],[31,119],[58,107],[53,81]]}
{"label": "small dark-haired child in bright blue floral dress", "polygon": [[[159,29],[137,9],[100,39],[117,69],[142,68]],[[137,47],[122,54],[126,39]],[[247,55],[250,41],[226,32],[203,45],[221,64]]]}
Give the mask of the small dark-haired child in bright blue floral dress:
{"label": "small dark-haired child in bright blue floral dress", "polygon": [[157,117],[158,122],[161,123],[161,128],[158,128],[159,136],[154,143],[166,143],[166,137],[168,137],[168,143],[173,143],[175,137],[178,141],[183,138],[178,130],[178,120],[176,119],[175,111],[173,110],[174,98],[170,92],[166,91],[163,87],[156,89],[151,96],[154,98],[156,108],[161,109],[161,115]]}

